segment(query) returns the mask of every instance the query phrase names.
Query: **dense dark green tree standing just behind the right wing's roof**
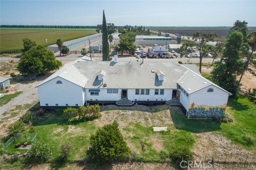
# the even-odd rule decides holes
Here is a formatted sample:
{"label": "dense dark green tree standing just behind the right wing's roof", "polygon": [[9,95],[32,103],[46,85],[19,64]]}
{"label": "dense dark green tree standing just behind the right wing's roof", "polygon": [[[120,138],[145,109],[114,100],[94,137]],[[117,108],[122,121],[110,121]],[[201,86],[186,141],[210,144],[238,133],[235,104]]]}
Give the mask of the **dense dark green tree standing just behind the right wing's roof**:
{"label": "dense dark green tree standing just behind the right wing's roof", "polygon": [[211,72],[212,81],[234,96],[239,90],[239,83],[236,80],[236,76],[243,72],[244,65],[240,60],[242,39],[242,33],[236,31],[230,33],[222,53],[222,58]]}

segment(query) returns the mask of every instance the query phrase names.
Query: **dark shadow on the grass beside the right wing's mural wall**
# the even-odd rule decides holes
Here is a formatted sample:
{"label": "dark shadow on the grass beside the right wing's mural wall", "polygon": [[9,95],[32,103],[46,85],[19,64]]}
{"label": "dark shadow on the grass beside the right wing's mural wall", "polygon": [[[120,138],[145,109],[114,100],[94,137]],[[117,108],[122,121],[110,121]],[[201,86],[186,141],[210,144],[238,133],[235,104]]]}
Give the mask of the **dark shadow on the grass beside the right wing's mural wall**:
{"label": "dark shadow on the grass beside the right wing's mural wall", "polygon": [[212,119],[188,119],[180,107],[172,107],[170,109],[172,122],[176,129],[189,131],[192,133],[203,133],[221,130],[221,123]]}

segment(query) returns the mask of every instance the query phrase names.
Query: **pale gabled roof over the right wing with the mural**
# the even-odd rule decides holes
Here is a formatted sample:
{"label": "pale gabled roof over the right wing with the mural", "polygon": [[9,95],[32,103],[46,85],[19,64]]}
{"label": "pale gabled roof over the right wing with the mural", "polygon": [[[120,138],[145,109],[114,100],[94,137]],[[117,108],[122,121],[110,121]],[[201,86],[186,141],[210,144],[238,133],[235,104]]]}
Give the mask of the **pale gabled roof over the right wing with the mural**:
{"label": "pale gabled roof over the right wing with the mural", "polygon": [[194,92],[197,92],[198,90],[201,90],[203,88],[213,85],[213,86],[227,92],[229,95],[232,95],[230,92],[224,90],[220,86],[214,84],[213,82],[209,81],[208,79],[204,78],[200,74],[197,74],[196,72],[194,72],[190,69],[188,69],[188,71],[180,78],[180,80],[178,80],[177,83],[184,90],[186,90],[186,92],[188,92],[188,94],[192,94]]}

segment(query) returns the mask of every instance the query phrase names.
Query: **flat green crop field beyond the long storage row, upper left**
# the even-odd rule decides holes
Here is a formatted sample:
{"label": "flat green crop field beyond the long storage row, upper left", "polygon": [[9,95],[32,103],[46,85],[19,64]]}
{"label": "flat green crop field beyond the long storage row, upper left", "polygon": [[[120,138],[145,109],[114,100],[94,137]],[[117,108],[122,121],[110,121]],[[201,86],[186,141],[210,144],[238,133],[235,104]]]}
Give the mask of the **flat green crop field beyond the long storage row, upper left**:
{"label": "flat green crop field beyond the long storage row, upper left", "polygon": [[0,53],[14,53],[23,48],[22,39],[29,38],[37,45],[55,44],[57,39],[69,41],[96,34],[96,29],[54,29],[54,28],[0,28]]}

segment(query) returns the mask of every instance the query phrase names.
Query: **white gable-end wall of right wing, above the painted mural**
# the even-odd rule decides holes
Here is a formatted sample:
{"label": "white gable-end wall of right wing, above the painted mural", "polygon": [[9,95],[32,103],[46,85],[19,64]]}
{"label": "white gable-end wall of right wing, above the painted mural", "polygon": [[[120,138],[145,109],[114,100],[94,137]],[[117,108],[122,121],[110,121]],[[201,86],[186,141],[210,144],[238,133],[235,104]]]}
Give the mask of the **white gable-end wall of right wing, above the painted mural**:
{"label": "white gable-end wall of right wing, above the painted mural", "polygon": [[[213,88],[214,92],[207,92],[208,88]],[[228,93],[215,87],[209,86],[190,95],[190,104],[205,106],[220,106],[228,102]]]}

